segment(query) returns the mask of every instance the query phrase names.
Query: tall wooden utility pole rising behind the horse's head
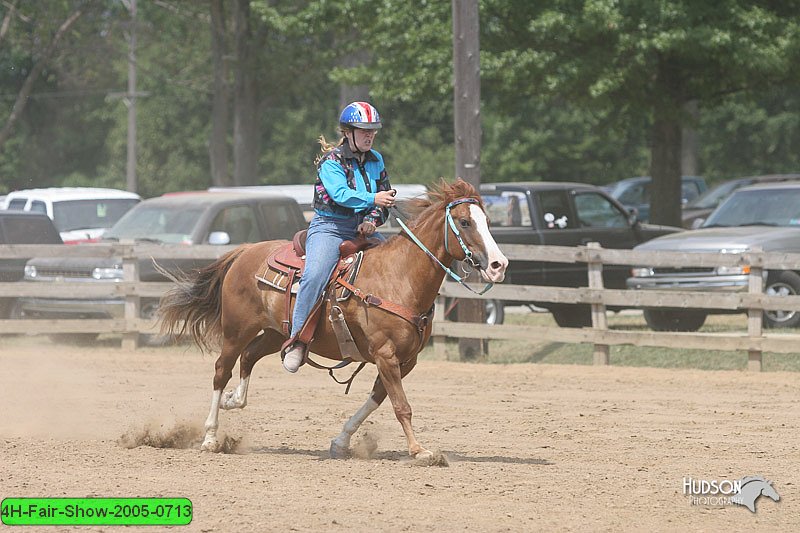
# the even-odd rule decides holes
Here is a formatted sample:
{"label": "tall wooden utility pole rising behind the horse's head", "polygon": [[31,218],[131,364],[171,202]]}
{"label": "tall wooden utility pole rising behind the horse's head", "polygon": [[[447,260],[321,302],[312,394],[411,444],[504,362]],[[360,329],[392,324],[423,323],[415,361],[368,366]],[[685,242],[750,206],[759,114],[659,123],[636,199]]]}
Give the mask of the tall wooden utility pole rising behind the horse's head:
{"label": "tall wooden utility pole rising behind the horse's head", "polygon": [[[454,121],[456,177],[476,188],[481,183],[481,78],[478,0],[453,0]],[[462,300],[459,322],[484,322],[482,300]],[[459,339],[461,360],[475,360],[486,354],[480,339]]]}

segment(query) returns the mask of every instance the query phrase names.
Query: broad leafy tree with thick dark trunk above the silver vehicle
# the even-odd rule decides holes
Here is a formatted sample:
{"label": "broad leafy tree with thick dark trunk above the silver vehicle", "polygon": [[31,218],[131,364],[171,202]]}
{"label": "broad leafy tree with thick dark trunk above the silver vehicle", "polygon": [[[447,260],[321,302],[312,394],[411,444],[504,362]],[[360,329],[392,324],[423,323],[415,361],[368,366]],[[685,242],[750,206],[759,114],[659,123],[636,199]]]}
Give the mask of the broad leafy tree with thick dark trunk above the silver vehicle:
{"label": "broad leafy tree with thick dark trunk above the silver vehicle", "polygon": [[[680,223],[685,105],[797,79],[798,2],[486,1],[487,74],[618,121],[650,122],[651,219]],[[485,49],[486,50],[486,49]]]}

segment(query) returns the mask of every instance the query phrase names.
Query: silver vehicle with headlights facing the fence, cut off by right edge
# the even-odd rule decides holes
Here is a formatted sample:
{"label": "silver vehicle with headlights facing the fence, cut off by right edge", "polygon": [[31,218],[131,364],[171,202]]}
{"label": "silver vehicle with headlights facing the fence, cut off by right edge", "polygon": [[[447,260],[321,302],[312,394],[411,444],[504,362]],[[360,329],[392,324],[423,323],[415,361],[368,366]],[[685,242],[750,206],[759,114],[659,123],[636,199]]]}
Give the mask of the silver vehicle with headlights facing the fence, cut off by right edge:
{"label": "silver vehicle with headlights facing the fence, cut off by right edge", "polygon": [[[760,247],[764,252],[800,252],[800,182],[754,185],[728,197],[695,230],[665,235],[637,246],[642,251],[741,253]],[[749,268],[632,269],[627,286],[634,290],[746,292]],[[769,295],[800,294],[800,266],[765,271],[764,292]],[[714,309],[646,309],[647,324],[656,331],[696,331]],[[766,327],[800,326],[796,311],[765,311]]]}

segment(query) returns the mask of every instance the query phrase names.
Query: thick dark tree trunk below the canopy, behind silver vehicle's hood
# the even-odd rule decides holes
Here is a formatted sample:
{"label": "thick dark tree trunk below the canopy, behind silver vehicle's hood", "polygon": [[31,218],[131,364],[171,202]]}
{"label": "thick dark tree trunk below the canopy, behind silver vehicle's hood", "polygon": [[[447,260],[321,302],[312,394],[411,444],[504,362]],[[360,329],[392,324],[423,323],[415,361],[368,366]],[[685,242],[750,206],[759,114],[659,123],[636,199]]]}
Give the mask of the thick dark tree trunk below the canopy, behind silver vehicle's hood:
{"label": "thick dark tree trunk below the canopy, behind silver vehicle's hood", "polygon": [[653,124],[650,160],[650,222],[681,226],[681,125],[672,116]]}

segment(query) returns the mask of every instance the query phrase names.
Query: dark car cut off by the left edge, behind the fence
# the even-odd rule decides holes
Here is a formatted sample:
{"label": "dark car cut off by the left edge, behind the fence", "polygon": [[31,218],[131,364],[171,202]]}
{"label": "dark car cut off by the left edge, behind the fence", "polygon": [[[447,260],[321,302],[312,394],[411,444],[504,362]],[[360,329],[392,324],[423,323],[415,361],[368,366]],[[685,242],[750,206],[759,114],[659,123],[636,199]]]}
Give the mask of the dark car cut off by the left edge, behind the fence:
{"label": "dark car cut off by the left edge, behind the fence", "polygon": [[[53,221],[41,213],[0,210],[0,245],[63,244]],[[21,281],[27,258],[0,259],[0,282]],[[19,318],[17,298],[0,298],[0,319]]]}

